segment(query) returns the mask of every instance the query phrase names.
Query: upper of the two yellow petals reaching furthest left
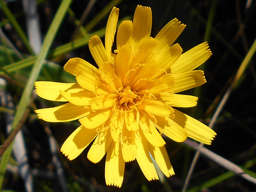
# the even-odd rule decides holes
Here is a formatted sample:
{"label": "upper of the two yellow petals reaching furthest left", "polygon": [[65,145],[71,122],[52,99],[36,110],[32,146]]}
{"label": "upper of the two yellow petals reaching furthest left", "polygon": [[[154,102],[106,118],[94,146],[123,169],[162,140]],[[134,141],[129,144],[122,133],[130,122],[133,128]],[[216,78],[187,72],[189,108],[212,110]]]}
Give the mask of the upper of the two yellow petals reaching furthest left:
{"label": "upper of the two yellow petals reaching furthest left", "polygon": [[35,88],[36,94],[39,97],[50,101],[67,101],[60,95],[60,90],[68,92],[78,92],[82,90],[78,83],[58,83],[52,81],[36,81]]}

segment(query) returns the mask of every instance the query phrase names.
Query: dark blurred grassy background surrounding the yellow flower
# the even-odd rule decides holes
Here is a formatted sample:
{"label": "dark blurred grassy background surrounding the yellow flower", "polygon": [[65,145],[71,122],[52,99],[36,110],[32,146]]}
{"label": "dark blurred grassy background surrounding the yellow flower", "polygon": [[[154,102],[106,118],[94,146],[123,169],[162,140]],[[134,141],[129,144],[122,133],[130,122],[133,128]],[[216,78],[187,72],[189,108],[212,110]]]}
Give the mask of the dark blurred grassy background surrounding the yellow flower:
{"label": "dark blurred grassy background surrounding the yellow flower", "polygon": [[[28,77],[31,75],[42,42],[62,1],[0,0],[0,143],[6,141],[6,129],[12,124]],[[208,125],[230,83],[256,39],[256,1],[254,0],[73,0],[53,34],[37,80],[75,82],[63,70],[71,57],[81,57],[96,65],[88,49],[94,34],[104,41],[104,30],[113,6],[120,8],[119,22],[132,20],[136,6],[152,9],[152,34],[173,18],[186,24],[176,40],[183,52],[207,41],[212,56],[200,69],[207,83],[184,94],[199,97],[198,106],[179,109]],[[254,54],[254,53],[252,53]],[[246,60],[245,60],[246,61]],[[205,146],[256,177],[256,58],[248,63],[232,88],[226,105],[214,123],[217,133],[212,145]],[[31,84],[31,85],[32,85]],[[69,161],[60,146],[79,126],[78,121],[46,123],[39,121],[35,109],[59,103],[33,96],[30,113],[22,117],[22,134],[16,150],[1,157],[0,186],[8,192],[164,192],[182,191],[196,150],[187,144],[166,141],[166,150],[175,175],[149,182],[136,161],[126,163],[121,188],[106,186],[105,158],[94,164],[87,158],[88,148]],[[29,98],[27,98],[29,99]],[[20,104],[21,105],[21,104]],[[234,174],[215,160],[200,155],[187,191],[255,192],[256,184]]]}

